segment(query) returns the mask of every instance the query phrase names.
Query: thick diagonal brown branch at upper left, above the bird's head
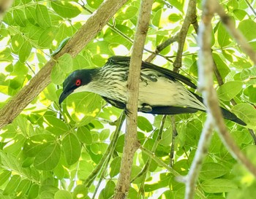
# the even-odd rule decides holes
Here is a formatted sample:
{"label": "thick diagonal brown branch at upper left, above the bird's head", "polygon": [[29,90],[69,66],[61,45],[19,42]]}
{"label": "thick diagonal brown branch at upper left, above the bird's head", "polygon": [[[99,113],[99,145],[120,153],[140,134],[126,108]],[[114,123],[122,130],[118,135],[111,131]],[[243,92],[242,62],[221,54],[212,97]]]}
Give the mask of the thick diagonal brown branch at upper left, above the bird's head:
{"label": "thick diagonal brown branch at upper left, above the bird's head", "polygon": [[61,55],[64,55],[64,53],[69,53],[72,57],[78,55],[78,52],[83,50],[83,47],[94,38],[105,24],[108,23],[110,17],[112,17],[126,1],[127,0],[107,0],[101,4],[94,15],[92,15],[82,28],[72,36],[63,49],[50,59],[50,61],[48,61],[31,79],[29,84],[23,87],[20,92],[0,110],[0,128],[12,122],[12,120],[14,120],[15,117],[50,84],[50,72],[53,69],[55,60]]}

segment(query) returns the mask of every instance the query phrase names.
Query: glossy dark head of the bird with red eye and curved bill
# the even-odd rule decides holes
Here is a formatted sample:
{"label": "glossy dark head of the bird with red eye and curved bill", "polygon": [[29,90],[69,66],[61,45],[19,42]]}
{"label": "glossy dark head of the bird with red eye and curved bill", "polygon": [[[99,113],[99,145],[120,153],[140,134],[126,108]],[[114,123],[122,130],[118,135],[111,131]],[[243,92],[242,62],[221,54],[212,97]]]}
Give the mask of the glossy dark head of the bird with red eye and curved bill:
{"label": "glossy dark head of the bird with red eye and curved bill", "polygon": [[63,82],[63,91],[59,97],[59,104],[71,93],[86,91],[86,85],[92,80],[94,69],[82,69],[73,71]]}

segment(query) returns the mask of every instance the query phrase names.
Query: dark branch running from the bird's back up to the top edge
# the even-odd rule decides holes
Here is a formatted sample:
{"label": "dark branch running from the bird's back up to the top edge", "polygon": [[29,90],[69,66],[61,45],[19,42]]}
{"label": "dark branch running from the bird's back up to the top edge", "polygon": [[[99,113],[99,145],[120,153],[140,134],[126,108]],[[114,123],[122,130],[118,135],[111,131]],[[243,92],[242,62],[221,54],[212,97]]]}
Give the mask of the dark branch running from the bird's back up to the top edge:
{"label": "dark branch running from the bird's back up to the top edge", "polygon": [[187,31],[189,30],[189,26],[191,24],[194,24],[195,21],[197,20],[197,16],[195,13],[196,4],[197,2],[195,0],[189,0],[189,5],[187,7],[187,15],[184,19],[184,23],[182,24],[181,31],[178,34],[178,52],[176,60],[173,63],[173,71],[178,71],[178,69],[181,68],[181,58],[185,39],[187,36]]}

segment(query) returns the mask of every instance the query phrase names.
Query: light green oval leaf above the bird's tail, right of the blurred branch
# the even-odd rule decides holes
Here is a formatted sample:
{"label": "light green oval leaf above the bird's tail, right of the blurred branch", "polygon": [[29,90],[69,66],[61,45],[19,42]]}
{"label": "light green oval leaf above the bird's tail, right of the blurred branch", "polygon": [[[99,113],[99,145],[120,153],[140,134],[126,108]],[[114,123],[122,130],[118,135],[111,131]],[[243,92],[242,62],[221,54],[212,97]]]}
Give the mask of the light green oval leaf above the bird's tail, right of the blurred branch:
{"label": "light green oval leaf above the bird's tail, right of the blurred branch", "polygon": [[223,101],[230,101],[233,99],[238,93],[241,92],[243,87],[243,82],[240,81],[231,81],[227,82],[224,85],[221,85],[217,90],[217,94],[220,99]]}

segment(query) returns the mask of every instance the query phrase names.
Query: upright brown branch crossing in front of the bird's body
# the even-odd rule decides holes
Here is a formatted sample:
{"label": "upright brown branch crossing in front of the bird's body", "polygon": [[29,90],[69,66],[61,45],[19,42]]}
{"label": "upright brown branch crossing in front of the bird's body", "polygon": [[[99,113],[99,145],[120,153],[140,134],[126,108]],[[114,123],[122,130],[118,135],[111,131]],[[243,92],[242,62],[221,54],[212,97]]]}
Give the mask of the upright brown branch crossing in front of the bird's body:
{"label": "upright brown branch crossing in front of the bird's body", "polygon": [[143,0],[140,4],[140,14],[138,17],[127,81],[127,133],[124,138],[124,153],[121,160],[120,176],[116,184],[116,194],[114,196],[116,199],[126,198],[127,196],[133,157],[139,147],[137,138],[138,88],[143,47],[148,31],[152,4],[153,0]]}

